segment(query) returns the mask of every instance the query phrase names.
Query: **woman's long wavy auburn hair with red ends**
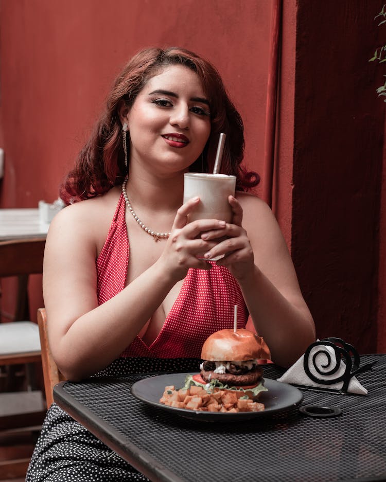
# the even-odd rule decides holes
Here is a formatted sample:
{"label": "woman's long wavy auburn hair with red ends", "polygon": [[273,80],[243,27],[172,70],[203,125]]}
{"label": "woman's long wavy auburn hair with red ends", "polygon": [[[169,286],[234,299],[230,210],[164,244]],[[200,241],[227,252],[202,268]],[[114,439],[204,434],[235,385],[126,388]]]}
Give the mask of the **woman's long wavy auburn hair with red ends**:
{"label": "woman's long wavy auburn hair with red ends", "polygon": [[221,172],[236,175],[238,190],[248,190],[258,184],[258,174],[247,172],[241,166],[244,156],[243,123],[225,91],[217,69],[189,50],[154,47],[139,51],[116,78],[106,100],[106,109],[97,121],[89,141],[80,151],[74,169],[67,174],[60,187],[60,197],[66,204],[94,198],[124,182],[127,169],[118,107],[122,100],[127,105],[132,105],[146,82],[170,65],[183,65],[193,70],[199,76],[209,99],[209,139],[202,156],[190,166],[190,171],[213,172],[219,135],[224,132],[226,141]]}

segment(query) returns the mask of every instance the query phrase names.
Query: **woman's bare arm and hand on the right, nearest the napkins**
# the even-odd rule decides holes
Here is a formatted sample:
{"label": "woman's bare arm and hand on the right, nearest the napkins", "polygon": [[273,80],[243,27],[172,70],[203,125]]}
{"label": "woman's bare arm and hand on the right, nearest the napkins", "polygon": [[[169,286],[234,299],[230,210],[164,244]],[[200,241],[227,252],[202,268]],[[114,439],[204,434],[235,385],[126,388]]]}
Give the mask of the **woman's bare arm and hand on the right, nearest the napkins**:
{"label": "woman's bare arm and hand on the right, nearest the napkins", "polygon": [[[230,197],[230,204],[234,217],[225,229],[229,239],[212,248],[207,257],[225,254],[217,264],[227,266],[237,279],[272,360],[289,366],[315,341],[315,328],[287,245],[263,201],[240,193],[238,200]],[[204,239],[215,236],[215,232],[202,235]]]}

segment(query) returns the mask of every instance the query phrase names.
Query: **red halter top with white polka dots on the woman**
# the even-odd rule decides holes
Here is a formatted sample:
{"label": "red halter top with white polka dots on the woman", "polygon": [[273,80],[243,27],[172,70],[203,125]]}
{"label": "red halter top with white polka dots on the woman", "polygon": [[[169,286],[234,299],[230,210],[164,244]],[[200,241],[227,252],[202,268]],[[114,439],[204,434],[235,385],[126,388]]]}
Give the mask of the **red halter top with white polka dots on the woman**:
{"label": "red halter top with white polka dots on the woman", "polygon": [[[99,305],[125,288],[130,260],[125,208],[121,194],[106,242],[96,262]],[[159,335],[150,346],[136,336],[121,356],[200,358],[201,347],[210,334],[233,328],[235,305],[238,306],[237,328],[245,328],[248,310],[231,273],[215,263],[209,271],[191,268]]]}

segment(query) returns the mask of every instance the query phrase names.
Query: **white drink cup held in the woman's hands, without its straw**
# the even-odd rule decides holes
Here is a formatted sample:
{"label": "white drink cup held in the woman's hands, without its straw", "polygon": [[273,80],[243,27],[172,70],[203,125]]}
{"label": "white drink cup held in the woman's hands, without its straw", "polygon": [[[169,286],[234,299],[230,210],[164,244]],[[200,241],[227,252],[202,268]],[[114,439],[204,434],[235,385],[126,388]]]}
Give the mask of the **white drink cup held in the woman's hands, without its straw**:
{"label": "white drink cup held in the woman's hands, without its straw", "polygon": [[228,202],[235,195],[236,176],[186,172],[184,174],[184,203],[198,196],[200,203],[189,216],[189,222],[197,219],[218,219],[230,223],[232,208]]}

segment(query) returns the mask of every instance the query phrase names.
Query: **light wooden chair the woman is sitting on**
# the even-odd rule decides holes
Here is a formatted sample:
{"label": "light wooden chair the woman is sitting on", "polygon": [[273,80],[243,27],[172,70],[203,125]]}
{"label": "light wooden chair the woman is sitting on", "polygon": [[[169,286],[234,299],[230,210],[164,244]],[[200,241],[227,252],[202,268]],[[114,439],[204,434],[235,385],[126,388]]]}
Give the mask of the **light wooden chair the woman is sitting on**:
{"label": "light wooden chair the woman is sitting on", "polygon": [[47,315],[45,308],[39,308],[38,310],[38,324],[40,333],[40,344],[42,347],[44,389],[46,392],[47,408],[49,408],[52,402],[54,402],[54,398],[52,396],[52,389],[57,383],[65,380],[65,378],[63,377],[54,359],[52,358],[52,353],[49,348],[47,335]]}

